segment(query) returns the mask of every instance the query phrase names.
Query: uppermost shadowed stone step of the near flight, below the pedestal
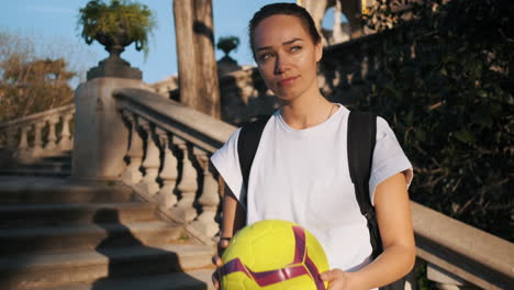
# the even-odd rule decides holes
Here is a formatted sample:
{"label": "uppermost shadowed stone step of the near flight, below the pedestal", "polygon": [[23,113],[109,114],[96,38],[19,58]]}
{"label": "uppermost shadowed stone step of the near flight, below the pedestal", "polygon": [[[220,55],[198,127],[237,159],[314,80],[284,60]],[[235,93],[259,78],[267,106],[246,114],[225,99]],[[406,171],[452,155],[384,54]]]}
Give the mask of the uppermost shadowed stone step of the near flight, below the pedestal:
{"label": "uppermost shadowed stone step of the near flight, below the pedestal", "polygon": [[[5,179],[7,177],[2,177]],[[23,180],[19,176],[14,180]],[[60,180],[40,178],[40,180]],[[34,177],[27,178],[34,180]],[[36,179],[37,180],[37,179]],[[77,202],[128,202],[135,201],[133,191],[124,186],[87,186],[51,182],[23,183],[1,182],[0,204],[5,203],[77,203]]]}

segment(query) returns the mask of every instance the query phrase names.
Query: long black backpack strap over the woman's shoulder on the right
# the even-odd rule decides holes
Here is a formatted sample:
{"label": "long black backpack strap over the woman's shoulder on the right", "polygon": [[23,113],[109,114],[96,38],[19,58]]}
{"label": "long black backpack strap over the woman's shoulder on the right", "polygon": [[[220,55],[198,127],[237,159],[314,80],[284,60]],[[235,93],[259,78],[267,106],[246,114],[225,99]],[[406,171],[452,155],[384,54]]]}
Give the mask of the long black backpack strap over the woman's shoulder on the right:
{"label": "long black backpack strap over the woman's shoulder on the right", "polygon": [[348,116],[348,167],[360,213],[368,221],[373,257],[382,252],[375,208],[369,197],[369,178],[377,136],[377,116],[366,112],[350,112]]}

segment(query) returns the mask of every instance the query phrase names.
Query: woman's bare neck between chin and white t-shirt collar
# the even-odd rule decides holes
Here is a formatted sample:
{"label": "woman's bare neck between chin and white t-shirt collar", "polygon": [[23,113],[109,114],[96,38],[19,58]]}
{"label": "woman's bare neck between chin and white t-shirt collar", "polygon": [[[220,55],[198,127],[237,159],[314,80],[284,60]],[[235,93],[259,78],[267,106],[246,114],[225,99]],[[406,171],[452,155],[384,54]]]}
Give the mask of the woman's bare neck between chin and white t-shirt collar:
{"label": "woman's bare neck between chin and white t-shirt collar", "polygon": [[316,87],[315,91],[282,102],[280,114],[289,126],[303,130],[325,122],[337,109],[337,105],[327,101]]}

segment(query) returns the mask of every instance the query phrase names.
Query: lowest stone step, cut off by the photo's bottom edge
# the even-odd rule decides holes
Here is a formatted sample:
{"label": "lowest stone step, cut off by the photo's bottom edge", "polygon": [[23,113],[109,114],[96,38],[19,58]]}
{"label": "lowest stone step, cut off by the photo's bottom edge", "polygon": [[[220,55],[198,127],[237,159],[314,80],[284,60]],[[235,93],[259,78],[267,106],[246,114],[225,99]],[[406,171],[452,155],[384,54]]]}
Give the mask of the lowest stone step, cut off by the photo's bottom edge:
{"label": "lowest stone step, cut off by the photo's bottom edge", "polygon": [[[107,278],[90,283],[71,283],[60,287],[40,288],[38,290],[214,290],[215,288],[211,281],[212,271],[212,269],[202,269],[137,278]],[[20,288],[16,290],[32,289]]]}

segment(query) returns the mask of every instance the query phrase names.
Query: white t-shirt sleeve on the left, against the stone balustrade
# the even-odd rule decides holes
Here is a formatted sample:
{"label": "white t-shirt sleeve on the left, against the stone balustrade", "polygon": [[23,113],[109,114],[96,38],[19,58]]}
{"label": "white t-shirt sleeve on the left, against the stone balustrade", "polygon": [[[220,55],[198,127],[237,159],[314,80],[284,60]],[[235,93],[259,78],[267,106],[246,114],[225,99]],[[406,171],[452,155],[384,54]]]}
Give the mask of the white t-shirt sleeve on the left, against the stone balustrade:
{"label": "white t-shirt sleeve on the left, against the stone balustrade", "polygon": [[244,189],[243,176],[241,174],[239,156],[237,154],[239,132],[241,129],[234,132],[223,147],[216,150],[211,157],[212,165],[214,165],[217,172],[223,177],[223,180],[225,180],[225,183],[237,200],[244,194],[242,193]]}

